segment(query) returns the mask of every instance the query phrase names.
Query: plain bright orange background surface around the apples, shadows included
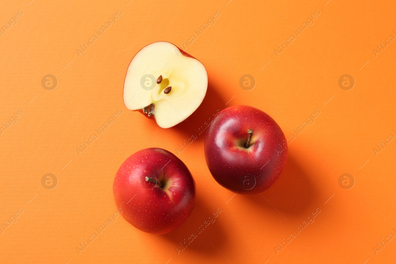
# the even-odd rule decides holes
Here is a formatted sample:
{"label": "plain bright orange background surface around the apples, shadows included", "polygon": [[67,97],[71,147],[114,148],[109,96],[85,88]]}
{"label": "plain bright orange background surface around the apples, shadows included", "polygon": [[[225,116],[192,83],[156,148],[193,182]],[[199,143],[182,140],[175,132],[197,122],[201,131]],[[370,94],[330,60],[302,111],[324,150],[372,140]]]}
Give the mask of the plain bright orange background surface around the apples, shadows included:
{"label": "plain bright orange background surface around the apples, shadows included", "polygon": [[[23,209],[0,234],[2,263],[395,261],[395,239],[377,255],[373,250],[391,232],[396,235],[396,142],[377,156],[373,151],[396,135],[396,44],[377,57],[373,52],[390,34],[396,37],[393,1],[111,2],[1,3],[1,25],[23,11],[0,36],[0,125],[23,110],[0,135],[0,224]],[[78,56],[76,49],[117,10],[122,15],[116,24]],[[197,37],[194,30],[216,10],[221,15],[215,24]],[[277,57],[274,49],[316,10],[314,24]],[[178,46],[192,34],[197,39],[186,51],[209,77],[198,110],[169,129],[127,110],[122,89],[133,55],[155,41]],[[51,91],[41,84],[46,74],[58,81]],[[244,74],[255,78],[254,89],[240,87]],[[339,87],[343,74],[354,78],[353,89]],[[217,109],[238,104],[270,114],[287,138],[314,110],[321,111],[289,144],[286,168],[271,188],[233,196],[211,177],[199,135],[179,155],[196,181],[188,221],[170,234],[151,235],[118,217],[78,255],[76,247],[116,211],[112,182],[126,157],[148,147],[176,154]],[[76,148],[118,109],[116,123],[79,156]],[[46,173],[57,177],[56,188],[42,186]],[[341,188],[343,173],[354,177],[353,188]],[[222,211],[216,221],[178,255],[179,243],[217,208]],[[314,222],[277,254],[278,243],[316,208]]]}

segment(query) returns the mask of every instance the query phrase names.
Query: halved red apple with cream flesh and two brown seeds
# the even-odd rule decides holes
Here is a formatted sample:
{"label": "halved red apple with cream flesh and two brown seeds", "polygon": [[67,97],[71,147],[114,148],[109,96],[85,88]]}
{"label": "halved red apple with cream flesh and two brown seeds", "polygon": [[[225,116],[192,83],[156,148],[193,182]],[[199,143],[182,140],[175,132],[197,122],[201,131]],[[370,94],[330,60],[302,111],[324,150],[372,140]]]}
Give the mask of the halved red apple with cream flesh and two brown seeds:
{"label": "halved red apple with cream flesh and two brown seeds", "polygon": [[124,82],[129,110],[154,115],[160,127],[182,122],[200,106],[208,89],[205,66],[177,46],[164,41],[138,51]]}

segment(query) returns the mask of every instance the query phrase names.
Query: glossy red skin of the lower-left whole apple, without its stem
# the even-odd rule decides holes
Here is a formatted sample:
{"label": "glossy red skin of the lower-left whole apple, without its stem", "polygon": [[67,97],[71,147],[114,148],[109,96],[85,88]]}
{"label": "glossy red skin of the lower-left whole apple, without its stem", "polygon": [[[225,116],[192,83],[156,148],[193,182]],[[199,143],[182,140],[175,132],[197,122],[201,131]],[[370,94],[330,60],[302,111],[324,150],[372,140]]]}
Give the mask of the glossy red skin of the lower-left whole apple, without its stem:
{"label": "glossy red skin of the lower-left whole apple, without its stem", "polygon": [[[146,181],[146,177],[156,179]],[[195,182],[187,166],[168,150],[146,148],[127,158],[113,182],[114,201],[122,217],[151,234],[180,226],[195,205]],[[132,198],[132,199],[131,199]]]}

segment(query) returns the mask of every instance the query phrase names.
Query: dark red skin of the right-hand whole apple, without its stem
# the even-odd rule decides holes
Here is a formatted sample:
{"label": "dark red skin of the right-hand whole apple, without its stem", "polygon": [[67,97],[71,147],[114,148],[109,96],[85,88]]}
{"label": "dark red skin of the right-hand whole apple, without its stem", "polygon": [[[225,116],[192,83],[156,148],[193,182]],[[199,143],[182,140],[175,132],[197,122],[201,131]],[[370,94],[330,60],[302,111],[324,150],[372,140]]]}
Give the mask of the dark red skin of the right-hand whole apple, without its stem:
{"label": "dark red skin of the right-hand whole apple, without its stem", "polygon": [[[253,129],[250,146],[244,147]],[[265,112],[244,105],[222,110],[205,135],[205,159],[213,178],[239,194],[267,190],[287,161],[286,137]],[[268,163],[267,163],[268,162]]]}

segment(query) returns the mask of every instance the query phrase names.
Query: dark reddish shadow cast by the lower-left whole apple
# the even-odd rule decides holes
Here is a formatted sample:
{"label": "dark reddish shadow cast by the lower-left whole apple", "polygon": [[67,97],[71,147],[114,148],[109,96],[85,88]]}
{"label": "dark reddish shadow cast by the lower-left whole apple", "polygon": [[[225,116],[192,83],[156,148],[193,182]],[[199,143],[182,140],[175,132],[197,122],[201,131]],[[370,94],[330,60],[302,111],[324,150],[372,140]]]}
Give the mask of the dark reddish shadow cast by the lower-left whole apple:
{"label": "dark reddish shadow cast by the lower-left whole apple", "polygon": [[[218,214],[216,218],[213,217],[216,209],[209,209],[205,201],[196,196],[195,208],[188,220],[172,232],[158,236],[164,237],[173,243],[175,245],[175,253],[179,253],[179,255],[183,255],[185,251],[196,251],[202,255],[216,254],[217,251],[210,245],[209,241],[221,247],[227,240],[225,230],[221,224],[221,214]],[[210,224],[208,224],[209,217],[211,217],[212,221]],[[213,219],[215,220],[214,222]],[[205,221],[207,221],[206,224],[208,226],[204,224]],[[193,238],[192,234],[195,234],[196,237]]]}

